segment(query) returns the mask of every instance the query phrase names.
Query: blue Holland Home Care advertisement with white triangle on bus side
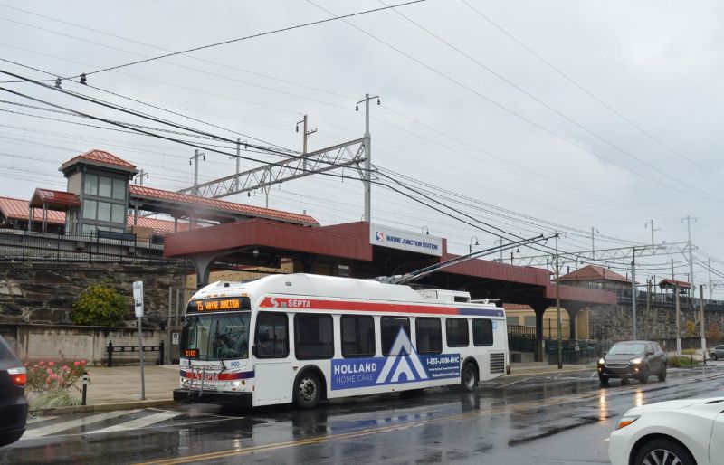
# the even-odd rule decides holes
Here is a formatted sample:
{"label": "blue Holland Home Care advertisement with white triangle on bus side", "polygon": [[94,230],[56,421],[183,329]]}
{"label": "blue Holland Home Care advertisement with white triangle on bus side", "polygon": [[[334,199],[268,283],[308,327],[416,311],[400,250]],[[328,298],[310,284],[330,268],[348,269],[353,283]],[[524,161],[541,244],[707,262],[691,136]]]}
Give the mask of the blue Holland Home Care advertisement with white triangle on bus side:
{"label": "blue Holland Home Care advertisement with white triangle on bus side", "polygon": [[460,354],[421,356],[400,327],[389,356],[332,360],[333,391],[460,377]]}

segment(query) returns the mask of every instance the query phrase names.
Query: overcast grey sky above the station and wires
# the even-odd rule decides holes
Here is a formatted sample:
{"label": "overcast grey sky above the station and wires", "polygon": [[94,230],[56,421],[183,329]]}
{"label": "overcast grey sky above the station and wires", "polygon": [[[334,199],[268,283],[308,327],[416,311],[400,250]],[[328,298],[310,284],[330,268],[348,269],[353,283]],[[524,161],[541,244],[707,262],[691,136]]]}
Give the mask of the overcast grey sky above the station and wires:
{"label": "overcast grey sky above the station and wires", "polygon": [[[99,5],[0,0],[0,58],[40,71],[8,62],[0,69],[32,79],[76,76],[391,4]],[[301,150],[295,123],[304,114],[318,129],[310,150],[361,137],[364,113],[355,103],[367,92],[379,94],[382,105],[371,109],[372,162],[387,175],[392,170],[413,178],[402,179],[409,185],[425,183],[436,200],[472,216],[472,223],[525,237],[559,229],[565,233],[560,247],[570,252],[591,250],[592,227],[596,249],[650,243],[649,220],[661,229],[655,242],[686,241],[681,218],[694,216],[700,284],[709,280],[701,262],[712,259],[724,270],[722,10],[714,1],[428,0],[91,74],[89,83],[101,90],[72,81],[63,88],[225,138],[293,150]],[[33,83],[2,86],[95,116],[160,127]],[[64,189],[58,166],[90,148],[144,169],[146,185],[178,190],[193,184],[192,147],[51,120],[99,124],[18,107],[6,101],[43,104],[0,93],[0,195],[28,199],[38,186]],[[218,141],[200,142],[233,151]],[[230,175],[234,165],[209,152],[200,179]],[[242,161],[243,169],[259,165]],[[349,169],[345,174],[354,176]],[[354,178],[312,176],[272,188],[269,206],[335,224],[359,221],[363,199]],[[227,200],[263,206],[265,196]],[[372,205],[374,223],[411,232],[426,227],[448,238],[452,252],[467,251],[473,236],[479,247],[498,239],[483,231],[489,226],[461,223],[384,186],[373,187]],[[536,253],[521,249],[519,256]],[[672,259],[676,278],[686,280],[689,265],[681,253],[637,259],[643,264],[638,280],[670,277]],[[610,266],[625,274],[629,261]]]}

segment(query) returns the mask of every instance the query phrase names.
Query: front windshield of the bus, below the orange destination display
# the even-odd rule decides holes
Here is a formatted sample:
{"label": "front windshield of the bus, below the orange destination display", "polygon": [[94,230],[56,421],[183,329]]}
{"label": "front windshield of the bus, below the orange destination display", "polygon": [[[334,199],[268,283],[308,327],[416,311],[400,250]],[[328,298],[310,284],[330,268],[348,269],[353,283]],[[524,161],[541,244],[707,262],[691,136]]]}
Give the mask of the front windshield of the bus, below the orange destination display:
{"label": "front windshield of the bus, below the orange destination display", "polygon": [[198,360],[249,358],[251,312],[189,315],[181,331],[181,356]]}

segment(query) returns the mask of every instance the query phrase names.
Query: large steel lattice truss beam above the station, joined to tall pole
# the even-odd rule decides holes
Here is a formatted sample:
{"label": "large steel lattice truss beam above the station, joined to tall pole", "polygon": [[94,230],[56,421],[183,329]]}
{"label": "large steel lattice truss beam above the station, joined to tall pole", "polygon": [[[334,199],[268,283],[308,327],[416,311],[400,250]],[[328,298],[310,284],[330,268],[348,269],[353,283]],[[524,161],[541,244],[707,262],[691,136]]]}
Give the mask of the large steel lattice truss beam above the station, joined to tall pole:
{"label": "large steel lattice truss beam above the station, joined to tall pole", "polygon": [[214,181],[188,187],[178,192],[209,198],[221,198],[243,192],[263,189],[304,176],[325,173],[346,166],[357,166],[360,179],[365,173],[360,164],[365,161],[365,140],[358,138],[336,146],[322,148],[306,155],[294,156]]}

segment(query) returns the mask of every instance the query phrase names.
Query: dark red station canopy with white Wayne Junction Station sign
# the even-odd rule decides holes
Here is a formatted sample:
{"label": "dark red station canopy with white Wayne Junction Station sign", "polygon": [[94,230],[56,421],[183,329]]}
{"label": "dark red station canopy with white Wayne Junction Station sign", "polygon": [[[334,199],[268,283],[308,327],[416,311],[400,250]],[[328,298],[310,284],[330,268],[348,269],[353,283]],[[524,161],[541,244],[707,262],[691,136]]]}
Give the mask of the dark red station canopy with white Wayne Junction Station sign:
{"label": "dark red station canopy with white Wayne Junction Station sign", "polygon": [[[305,226],[255,218],[174,233],[167,236],[165,255],[195,263],[197,287],[208,282],[212,269],[234,266],[280,266],[291,260],[295,272],[375,279],[419,270],[456,257],[444,238],[409,233],[375,223],[356,222]],[[415,281],[421,288],[466,290],[472,299],[529,305],[536,312],[538,343],[542,319],[556,298],[572,322],[583,308],[616,304],[614,292],[557,285],[548,270],[499,261],[463,261]]]}

